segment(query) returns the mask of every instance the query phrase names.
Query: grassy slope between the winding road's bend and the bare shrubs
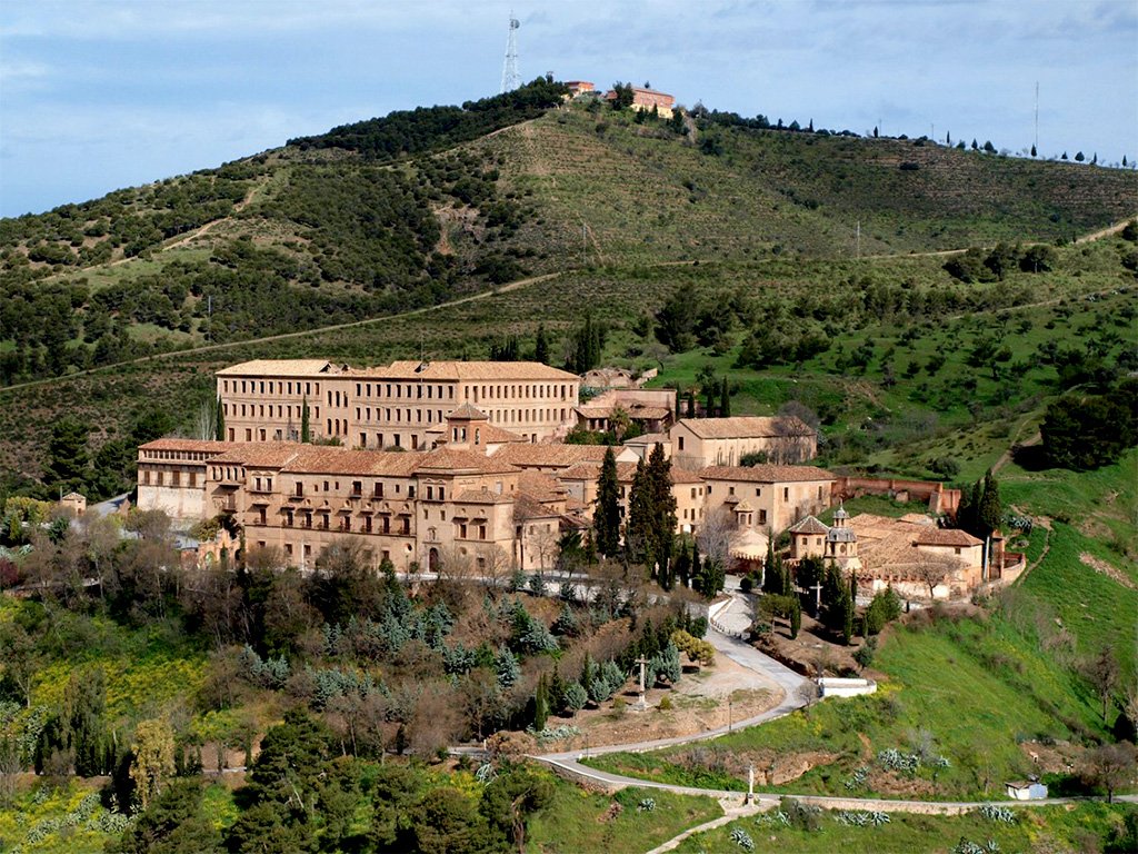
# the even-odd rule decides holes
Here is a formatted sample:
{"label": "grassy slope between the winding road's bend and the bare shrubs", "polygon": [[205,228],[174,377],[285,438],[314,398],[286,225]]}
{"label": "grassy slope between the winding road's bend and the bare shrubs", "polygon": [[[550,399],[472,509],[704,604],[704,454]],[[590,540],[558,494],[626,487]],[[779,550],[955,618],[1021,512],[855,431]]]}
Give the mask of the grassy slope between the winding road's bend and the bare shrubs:
{"label": "grassy slope between the winding road's bend and the bare shrubs", "polygon": [[[706,746],[589,759],[605,771],[660,782],[744,790],[747,769],[776,767],[787,754],[836,754],[769,791],[925,799],[999,796],[993,787],[1031,772],[1019,741],[1079,739],[1099,733],[1092,692],[1038,643],[1001,615],[987,621],[945,619],[894,630],[880,648],[879,692],[828,700]],[[935,775],[921,769],[904,778],[880,767],[887,748],[917,749],[929,742],[950,767]],[[871,770],[865,787],[846,787],[853,771]],[[993,793],[996,793],[993,795]]]}

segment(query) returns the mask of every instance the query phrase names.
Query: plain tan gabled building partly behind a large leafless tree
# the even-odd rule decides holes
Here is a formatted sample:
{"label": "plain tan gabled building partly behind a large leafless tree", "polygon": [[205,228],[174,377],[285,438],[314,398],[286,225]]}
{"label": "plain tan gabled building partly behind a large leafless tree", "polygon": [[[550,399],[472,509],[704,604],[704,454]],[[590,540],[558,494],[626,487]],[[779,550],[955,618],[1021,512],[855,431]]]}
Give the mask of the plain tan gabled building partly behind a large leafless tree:
{"label": "plain tan gabled building partly behind a large leafless tree", "polygon": [[682,418],[668,430],[671,459],[682,468],[739,466],[748,454],[768,462],[798,463],[818,453],[817,432],[793,416]]}

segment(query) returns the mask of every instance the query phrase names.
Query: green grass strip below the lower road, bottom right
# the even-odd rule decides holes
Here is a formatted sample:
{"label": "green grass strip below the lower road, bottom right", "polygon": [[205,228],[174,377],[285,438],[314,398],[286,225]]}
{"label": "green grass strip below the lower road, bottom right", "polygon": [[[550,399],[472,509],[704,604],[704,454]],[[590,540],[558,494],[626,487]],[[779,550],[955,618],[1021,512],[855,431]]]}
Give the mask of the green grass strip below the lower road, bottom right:
{"label": "green grass strip below the lower road, bottom right", "polygon": [[[743,830],[751,838],[754,852],[794,852],[794,854],[947,854],[960,839],[986,845],[989,839],[999,846],[992,851],[1100,851],[1102,844],[1124,834],[1125,816],[1133,816],[1130,805],[1106,806],[1080,804],[1072,810],[1044,807],[1019,813],[1013,824],[984,819],[979,813],[966,815],[910,815],[892,813],[888,824],[873,828],[847,827],[836,813],[823,813],[819,828],[807,831],[783,826],[772,815],[739,819],[685,839],[681,854],[739,854],[743,848],[732,839],[732,832]],[[1131,818],[1131,820],[1133,820]],[[1122,851],[1122,848],[1119,848]]]}

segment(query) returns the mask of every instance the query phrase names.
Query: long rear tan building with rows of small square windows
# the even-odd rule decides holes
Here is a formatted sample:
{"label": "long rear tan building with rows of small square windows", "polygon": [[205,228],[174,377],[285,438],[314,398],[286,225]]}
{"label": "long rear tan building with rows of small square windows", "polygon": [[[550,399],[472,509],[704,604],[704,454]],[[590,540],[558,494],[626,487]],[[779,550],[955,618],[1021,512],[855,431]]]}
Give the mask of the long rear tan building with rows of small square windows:
{"label": "long rear tan building with rows of small square windows", "polygon": [[[580,379],[537,362],[393,362],[354,369],[319,359],[256,360],[217,371],[230,442],[316,441],[349,447],[435,446],[463,404],[529,442],[575,421]],[[307,414],[305,412],[307,411]]]}

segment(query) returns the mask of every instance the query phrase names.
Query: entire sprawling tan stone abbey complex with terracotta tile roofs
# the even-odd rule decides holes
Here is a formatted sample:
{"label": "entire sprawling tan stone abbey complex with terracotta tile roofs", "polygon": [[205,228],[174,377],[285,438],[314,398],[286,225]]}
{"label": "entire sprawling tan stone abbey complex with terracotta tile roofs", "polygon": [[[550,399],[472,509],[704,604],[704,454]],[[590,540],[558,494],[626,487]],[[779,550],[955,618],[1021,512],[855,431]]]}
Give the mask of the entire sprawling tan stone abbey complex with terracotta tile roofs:
{"label": "entire sprawling tan stone abbey complex with terracotta tile roofs", "polygon": [[[185,527],[226,520],[214,540],[195,541],[198,563],[244,542],[311,569],[330,544],[356,537],[371,565],[401,572],[552,568],[564,534],[587,535],[607,452],[566,437],[635,421],[657,432],[613,449],[621,517],[637,463],[660,446],[677,533],[723,529],[740,570],[789,531],[792,560],[824,557],[867,589],[918,593],[927,560],[950,569],[934,585],[940,597],[999,573],[981,541],[930,517],[858,517],[835,537],[815,515],[867,484],[806,465],[817,435],[790,416],[676,418],[671,389],[615,388],[583,403],[578,376],[536,362],[262,360],[216,379],[224,441],[160,438],[138,459],[141,509]],[[946,500],[938,491],[930,504]]]}

